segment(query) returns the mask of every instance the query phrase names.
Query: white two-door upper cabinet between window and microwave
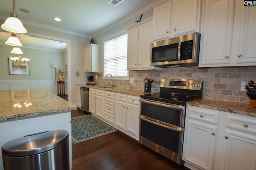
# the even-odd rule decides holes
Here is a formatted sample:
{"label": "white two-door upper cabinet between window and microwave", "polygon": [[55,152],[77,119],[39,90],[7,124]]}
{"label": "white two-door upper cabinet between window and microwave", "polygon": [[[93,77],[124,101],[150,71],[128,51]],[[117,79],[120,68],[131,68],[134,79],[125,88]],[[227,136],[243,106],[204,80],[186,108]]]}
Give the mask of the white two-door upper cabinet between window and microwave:
{"label": "white two-door upper cabinet between window and microwave", "polygon": [[150,66],[152,39],[152,17],[136,23],[128,29],[127,69],[161,69]]}

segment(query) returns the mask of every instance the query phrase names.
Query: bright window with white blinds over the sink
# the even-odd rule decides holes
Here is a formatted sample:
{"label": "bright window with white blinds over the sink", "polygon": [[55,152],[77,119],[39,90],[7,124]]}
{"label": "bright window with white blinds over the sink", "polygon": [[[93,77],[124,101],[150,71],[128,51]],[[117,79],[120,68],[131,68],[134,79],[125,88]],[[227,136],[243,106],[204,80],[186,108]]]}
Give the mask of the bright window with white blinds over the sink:
{"label": "bright window with white blinds over the sink", "polygon": [[120,31],[103,39],[104,76],[112,74],[113,79],[129,79],[127,71],[127,32]]}

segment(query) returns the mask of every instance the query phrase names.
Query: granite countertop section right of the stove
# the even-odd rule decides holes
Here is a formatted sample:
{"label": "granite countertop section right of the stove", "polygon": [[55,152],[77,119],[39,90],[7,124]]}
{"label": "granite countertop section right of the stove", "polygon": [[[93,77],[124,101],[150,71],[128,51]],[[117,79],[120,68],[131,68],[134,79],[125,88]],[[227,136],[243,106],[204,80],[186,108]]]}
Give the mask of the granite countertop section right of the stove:
{"label": "granite countertop section right of the stove", "polygon": [[256,117],[256,107],[246,103],[203,98],[188,102],[187,105]]}

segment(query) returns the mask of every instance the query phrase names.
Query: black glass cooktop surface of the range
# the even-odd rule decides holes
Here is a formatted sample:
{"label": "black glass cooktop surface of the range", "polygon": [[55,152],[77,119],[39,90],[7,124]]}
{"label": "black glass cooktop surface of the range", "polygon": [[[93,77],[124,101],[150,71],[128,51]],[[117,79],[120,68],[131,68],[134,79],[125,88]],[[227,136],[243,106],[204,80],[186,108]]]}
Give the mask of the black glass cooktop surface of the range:
{"label": "black glass cooktop surface of the range", "polygon": [[200,96],[190,96],[182,94],[170,94],[170,93],[153,93],[144,94],[140,96],[141,98],[148,100],[156,100],[159,102],[166,102],[171,104],[186,105],[186,102],[200,99]]}

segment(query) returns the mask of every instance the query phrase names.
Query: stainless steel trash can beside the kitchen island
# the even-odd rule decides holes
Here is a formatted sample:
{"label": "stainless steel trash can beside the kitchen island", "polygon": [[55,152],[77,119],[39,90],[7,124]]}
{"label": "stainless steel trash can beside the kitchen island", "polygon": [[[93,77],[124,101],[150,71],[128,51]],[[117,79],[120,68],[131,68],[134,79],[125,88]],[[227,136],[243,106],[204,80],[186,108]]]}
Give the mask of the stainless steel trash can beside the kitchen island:
{"label": "stainless steel trash can beside the kitchen island", "polygon": [[69,170],[68,131],[14,139],[2,146],[4,170]]}

